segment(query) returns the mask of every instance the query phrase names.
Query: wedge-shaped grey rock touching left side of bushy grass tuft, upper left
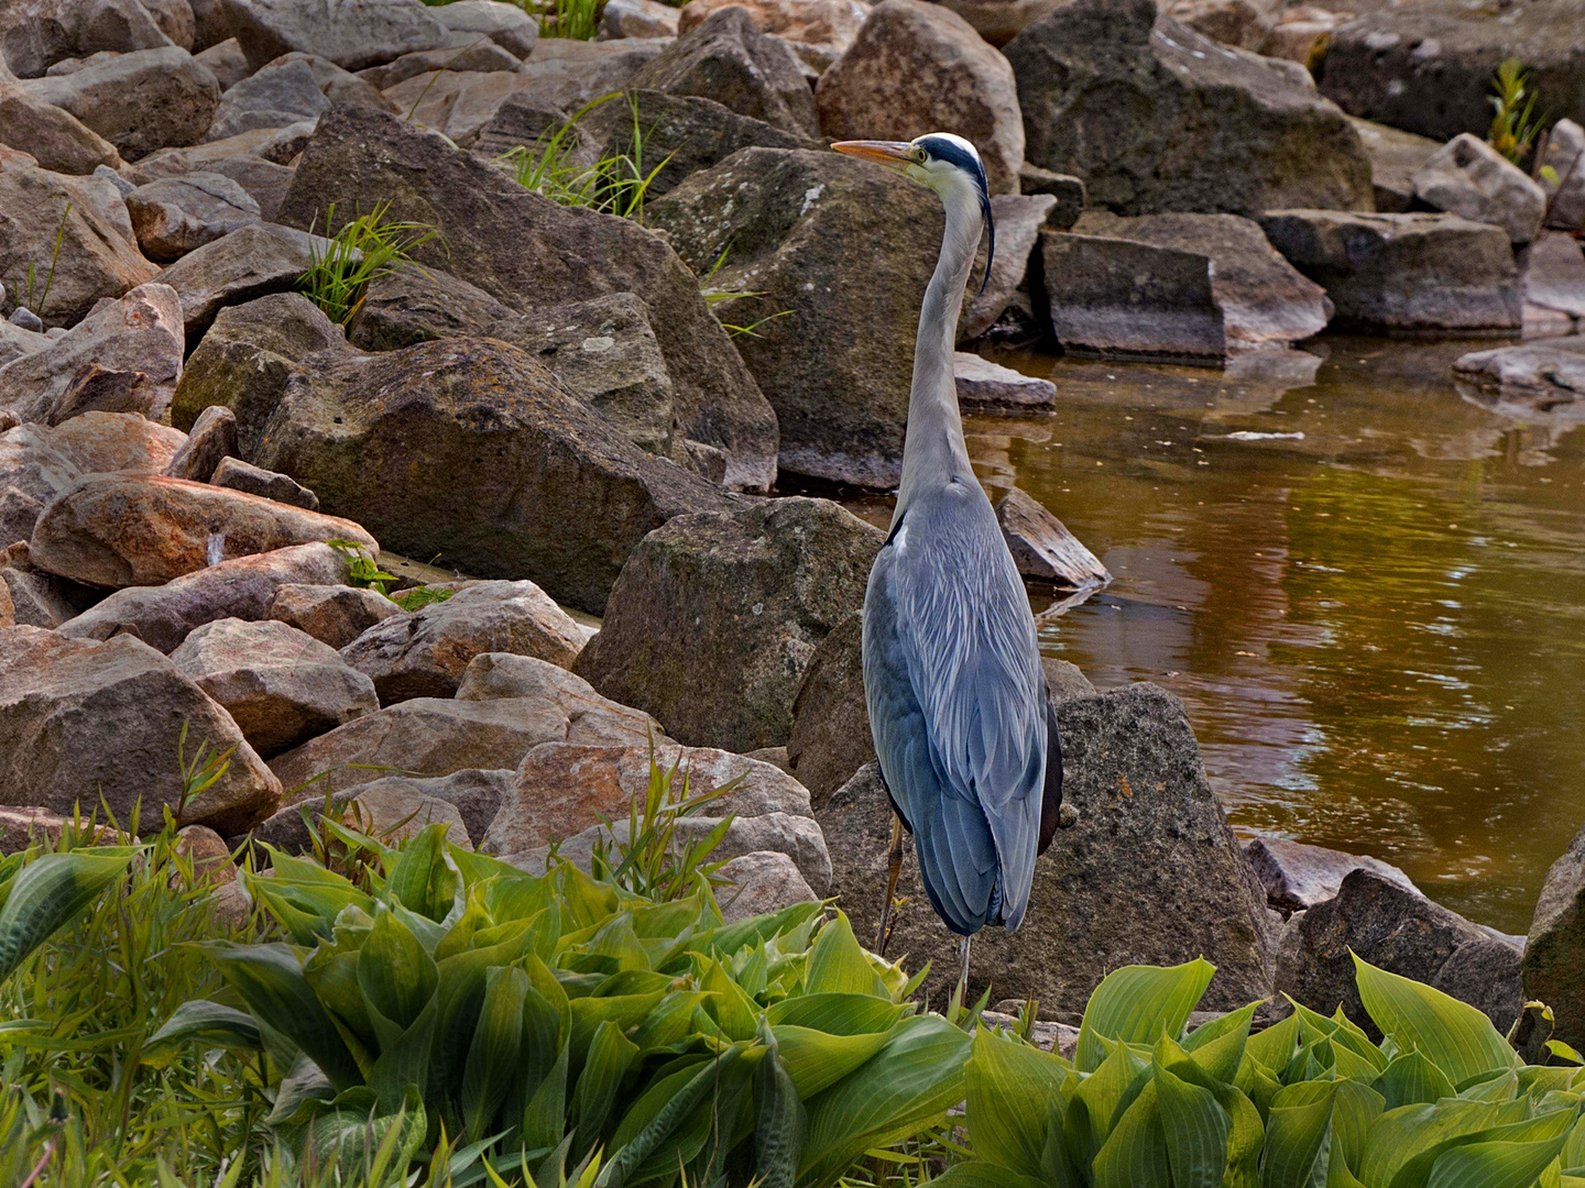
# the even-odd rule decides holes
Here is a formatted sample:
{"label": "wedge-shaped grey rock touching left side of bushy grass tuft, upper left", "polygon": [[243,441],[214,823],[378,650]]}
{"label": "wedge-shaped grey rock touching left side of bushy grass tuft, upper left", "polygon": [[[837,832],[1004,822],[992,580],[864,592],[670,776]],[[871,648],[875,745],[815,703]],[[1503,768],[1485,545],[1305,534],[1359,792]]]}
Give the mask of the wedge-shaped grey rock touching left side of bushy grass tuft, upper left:
{"label": "wedge-shaped grey rock touching left side of bushy grass tuft, upper left", "polygon": [[315,252],[328,255],[330,241],[276,223],[250,223],[189,252],[157,280],[176,290],[187,342],[197,345],[225,306],[290,291]]}

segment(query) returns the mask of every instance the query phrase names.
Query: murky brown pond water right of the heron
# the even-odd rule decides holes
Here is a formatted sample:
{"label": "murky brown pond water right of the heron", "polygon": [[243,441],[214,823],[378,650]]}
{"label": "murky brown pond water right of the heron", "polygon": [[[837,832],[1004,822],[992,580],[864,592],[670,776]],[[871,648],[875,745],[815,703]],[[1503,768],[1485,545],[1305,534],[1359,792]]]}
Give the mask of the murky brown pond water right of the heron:
{"label": "murky brown pond water right of the heron", "polygon": [[1585,402],[1460,391],[1480,345],[995,355],[1057,412],[965,428],[992,497],[1024,488],[1114,575],[1041,649],[1178,694],[1243,836],[1374,854],[1523,933],[1585,822]]}

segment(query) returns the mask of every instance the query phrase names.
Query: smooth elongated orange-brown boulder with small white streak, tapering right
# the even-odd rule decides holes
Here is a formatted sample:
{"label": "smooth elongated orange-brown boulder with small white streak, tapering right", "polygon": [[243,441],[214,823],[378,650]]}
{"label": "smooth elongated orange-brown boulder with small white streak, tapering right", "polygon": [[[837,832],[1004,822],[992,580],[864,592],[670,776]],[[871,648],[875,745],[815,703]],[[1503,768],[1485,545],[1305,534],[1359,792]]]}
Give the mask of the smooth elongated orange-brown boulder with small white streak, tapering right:
{"label": "smooth elongated orange-brown boulder with small white streak, tapering right", "polygon": [[90,474],[49,502],[30,551],[51,573],[122,589],[314,540],[379,551],[350,520],[184,478]]}

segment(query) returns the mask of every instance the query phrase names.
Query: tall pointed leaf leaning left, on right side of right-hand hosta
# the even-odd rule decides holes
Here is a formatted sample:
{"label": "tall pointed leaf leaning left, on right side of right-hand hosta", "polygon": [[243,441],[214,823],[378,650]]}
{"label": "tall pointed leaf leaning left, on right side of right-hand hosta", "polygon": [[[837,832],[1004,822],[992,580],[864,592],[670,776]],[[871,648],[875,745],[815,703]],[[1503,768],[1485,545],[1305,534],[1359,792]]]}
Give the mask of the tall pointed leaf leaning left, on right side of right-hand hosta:
{"label": "tall pointed leaf leaning left, on right side of right-hand hosta", "polygon": [[1480,1011],[1354,957],[1360,1000],[1376,1026],[1400,1052],[1419,1049],[1453,1085],[1491,1069],[1511,1069],[1518,1057]]}

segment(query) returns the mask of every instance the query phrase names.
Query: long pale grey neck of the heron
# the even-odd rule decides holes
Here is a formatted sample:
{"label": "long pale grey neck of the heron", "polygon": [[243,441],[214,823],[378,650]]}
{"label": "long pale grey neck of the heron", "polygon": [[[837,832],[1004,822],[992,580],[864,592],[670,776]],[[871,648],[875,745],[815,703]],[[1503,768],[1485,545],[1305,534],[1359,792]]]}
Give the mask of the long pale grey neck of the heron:
{"label": "long pale grey neck of the heron", "polygon": [[908,393],[908,432],[902,450],[902,483],[897,489],[900,516],[921,486],[951,475],[972,478],[964,423],[957,415],[957,382],[953,377],[953,347],[957,344],[957,314],[964,285],[975,263],[983,217],[980,198],[967,185],[941,195],[946,233],[935,276],[924,290],[919,309],[919,337],[913,348],[913,388]]}

